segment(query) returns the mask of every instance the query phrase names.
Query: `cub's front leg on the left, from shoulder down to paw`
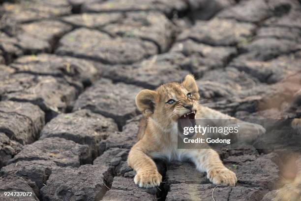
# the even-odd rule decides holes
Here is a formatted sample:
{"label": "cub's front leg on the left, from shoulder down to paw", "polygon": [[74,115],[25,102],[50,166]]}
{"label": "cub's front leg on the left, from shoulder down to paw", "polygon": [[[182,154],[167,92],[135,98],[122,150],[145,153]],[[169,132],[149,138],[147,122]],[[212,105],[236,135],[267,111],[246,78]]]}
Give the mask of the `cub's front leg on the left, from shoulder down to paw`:
{"label": "cub's front leg on the left, from shoulder down to paw", "polygon": [[143,188],[152,188],[160,185],[162,176],[153,160],[145,154],[147,152],[145,147],[142,141],[138,141],[131,148],[127,163],[137,172],[134,178],[135,184]]}

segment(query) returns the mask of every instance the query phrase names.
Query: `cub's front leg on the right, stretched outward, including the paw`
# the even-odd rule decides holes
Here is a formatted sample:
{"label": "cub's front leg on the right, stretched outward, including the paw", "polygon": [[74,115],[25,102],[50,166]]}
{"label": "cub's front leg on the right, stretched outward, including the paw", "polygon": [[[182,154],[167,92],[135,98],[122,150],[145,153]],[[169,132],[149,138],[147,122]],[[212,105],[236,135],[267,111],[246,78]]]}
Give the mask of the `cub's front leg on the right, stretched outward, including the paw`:
{"label": "cub's front leg on the right, stretched outward, including the paw", "polygon": [[213,149],[191,149],[190,159],[199,171],[206,171],[208,179],[213,184],[235,186],[236,175],[223,165],[218,154]]}

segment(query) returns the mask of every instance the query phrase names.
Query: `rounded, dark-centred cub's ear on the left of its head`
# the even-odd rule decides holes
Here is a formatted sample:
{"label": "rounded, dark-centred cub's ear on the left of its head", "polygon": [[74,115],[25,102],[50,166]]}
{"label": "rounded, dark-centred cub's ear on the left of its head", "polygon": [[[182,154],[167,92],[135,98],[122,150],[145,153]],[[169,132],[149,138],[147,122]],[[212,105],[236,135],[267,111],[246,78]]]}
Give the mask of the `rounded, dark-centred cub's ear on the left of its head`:
{"label": "rounded, dark-centred cub's ear on the left of its head", "polygon": [[144,116],[150,116],[153,113],[157,96],[157,92],[148,89],[142,90],[136,96],[136,105]]}

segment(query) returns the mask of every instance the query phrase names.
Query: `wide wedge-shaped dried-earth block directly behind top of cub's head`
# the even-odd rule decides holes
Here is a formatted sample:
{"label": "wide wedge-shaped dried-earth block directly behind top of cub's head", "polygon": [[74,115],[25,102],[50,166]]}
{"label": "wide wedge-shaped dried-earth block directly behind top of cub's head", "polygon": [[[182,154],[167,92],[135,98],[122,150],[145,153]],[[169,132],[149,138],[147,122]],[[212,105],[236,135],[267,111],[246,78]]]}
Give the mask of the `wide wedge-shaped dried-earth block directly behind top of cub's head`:
{"label": "wide wedge-shaped dried-earth block directly behind top of cub's head", "polygon": [[110,67],[104,72],[104,76],[114,81],[154,89],[167,82],[179,82],[189,74],[189,71],[181,69],[184,59],[180,53],[165,53],[141,63]]}

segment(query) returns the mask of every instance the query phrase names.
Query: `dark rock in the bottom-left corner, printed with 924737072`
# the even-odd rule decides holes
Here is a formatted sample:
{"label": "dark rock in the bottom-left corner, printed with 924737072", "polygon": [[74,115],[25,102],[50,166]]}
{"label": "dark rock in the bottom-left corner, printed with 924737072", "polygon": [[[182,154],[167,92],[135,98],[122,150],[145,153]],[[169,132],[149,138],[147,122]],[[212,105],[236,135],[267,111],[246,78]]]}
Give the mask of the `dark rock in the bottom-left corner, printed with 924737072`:
{"label": "dark rock in the bottom-left corner, printed with 924737072", "polygon": [[[1,201],[39,201],[32,189],[33,184],[16,175],[0,178]],[[24,192],[26,196],[4,197],[4,192]],[[28,193],[27,193],[28,192]]]}

